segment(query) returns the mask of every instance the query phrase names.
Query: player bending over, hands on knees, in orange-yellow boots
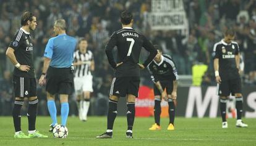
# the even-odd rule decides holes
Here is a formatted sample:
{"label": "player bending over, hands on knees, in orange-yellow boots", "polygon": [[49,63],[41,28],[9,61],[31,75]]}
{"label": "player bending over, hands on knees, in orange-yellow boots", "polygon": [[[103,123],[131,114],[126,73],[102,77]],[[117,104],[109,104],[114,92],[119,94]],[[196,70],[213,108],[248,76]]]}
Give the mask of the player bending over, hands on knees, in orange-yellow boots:
{"label": "player bending over, hands on knees, in orange-yellow boots", "polygon": [[[169,126],[168,130],[174,130],[175,105],[174,100],[177,98],[177,68],[173,59],[169,55],[162,55],[160,47],[154,45],[158,51],[153,62],[148,65],[148,71],[151,73],[151,79],[154,83],[155,107],[154,116],[155,124],[150,130],[160,130],[161,99],[168,102],[169,108]],[[166,89],[166,92],[164,91]]]}

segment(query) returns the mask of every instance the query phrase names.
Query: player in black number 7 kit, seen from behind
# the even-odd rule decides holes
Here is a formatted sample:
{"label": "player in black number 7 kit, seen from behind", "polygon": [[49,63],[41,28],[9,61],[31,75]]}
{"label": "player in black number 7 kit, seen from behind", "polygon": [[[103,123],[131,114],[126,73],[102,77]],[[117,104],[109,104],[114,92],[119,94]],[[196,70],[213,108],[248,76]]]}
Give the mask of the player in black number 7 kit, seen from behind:
{"label": "player in black number 7 kit, seen from behind", "polygon": [[[108,62],[114,68],[114,78],[109,93],[108,128],[105,133],[96,136],[98,139],[112,138],[113,124],[117,115],[119,97],[127,95],[127,131],[126,137],[132,138],[132,126],[135,117],[135,97],[138,97],[140,84],[140,68],[145,68],[157,54],[153,44],[145,36],[132,29],[132,14],[124,11],[121,14],[122,29],[115,31],[105,51]],[[112,54],[117,46],[117,63]],[[140,51],[144,47],[150,55],[143,64],[139,64]]]}

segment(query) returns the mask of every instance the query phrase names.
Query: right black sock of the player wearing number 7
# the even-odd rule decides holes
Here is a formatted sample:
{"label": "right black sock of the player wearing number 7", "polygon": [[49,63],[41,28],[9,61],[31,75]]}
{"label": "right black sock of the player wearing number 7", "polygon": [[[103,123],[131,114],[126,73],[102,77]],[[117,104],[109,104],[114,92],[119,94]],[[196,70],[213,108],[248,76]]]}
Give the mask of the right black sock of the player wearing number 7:
{"label": "right black sock of the player wearing number 7", "polygon": [[134,126],[134,117],[135,117],[135,102],[127,103],[127,130],[132,131]]}

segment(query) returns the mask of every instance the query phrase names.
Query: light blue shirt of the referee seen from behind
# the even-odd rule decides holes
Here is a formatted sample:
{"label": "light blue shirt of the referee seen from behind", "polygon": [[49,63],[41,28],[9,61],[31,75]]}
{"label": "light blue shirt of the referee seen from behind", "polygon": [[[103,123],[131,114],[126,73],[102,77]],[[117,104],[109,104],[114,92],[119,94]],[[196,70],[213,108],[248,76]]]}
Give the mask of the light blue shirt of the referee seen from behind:
{"label": "light blue shirt of the referee seen from behind", "polygon": [[49,39],[44,57],[51,59],[50,66],[69,68],[74,61],[74,51],[77,40],[67,34],[60,34]]}

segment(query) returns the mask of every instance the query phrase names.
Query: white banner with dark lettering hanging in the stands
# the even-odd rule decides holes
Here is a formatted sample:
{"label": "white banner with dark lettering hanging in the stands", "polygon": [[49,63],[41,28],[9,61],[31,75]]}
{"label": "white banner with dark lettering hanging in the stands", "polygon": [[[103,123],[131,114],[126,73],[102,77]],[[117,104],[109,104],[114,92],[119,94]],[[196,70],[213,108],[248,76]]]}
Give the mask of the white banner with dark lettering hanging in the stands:
{"label": "white banner with dark lettering hanging in the stands", "polygon": [[182,0],[151,0],[148,23],[152,30],[184,30],[186,12]]}

